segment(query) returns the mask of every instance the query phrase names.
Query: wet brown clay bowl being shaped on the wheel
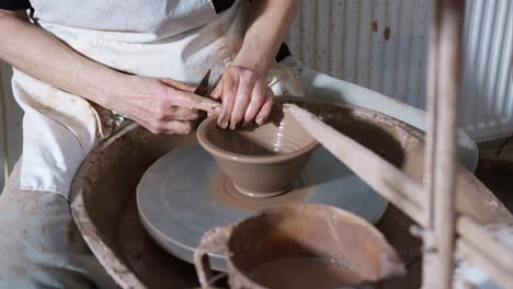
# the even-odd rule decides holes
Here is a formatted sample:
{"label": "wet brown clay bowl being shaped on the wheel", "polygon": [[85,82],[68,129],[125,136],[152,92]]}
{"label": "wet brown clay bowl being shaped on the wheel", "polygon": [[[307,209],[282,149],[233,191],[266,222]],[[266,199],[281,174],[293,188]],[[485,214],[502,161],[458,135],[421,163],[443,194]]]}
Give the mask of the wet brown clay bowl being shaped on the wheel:
{"label": "wet brown clay bowl being shaped on the wheel", "polygon": [[287,192],[319,146],[295,118],[276,107],[262,126],[220,129],[210,116],[197,128],[197,140],[242,194],[272,197]]}

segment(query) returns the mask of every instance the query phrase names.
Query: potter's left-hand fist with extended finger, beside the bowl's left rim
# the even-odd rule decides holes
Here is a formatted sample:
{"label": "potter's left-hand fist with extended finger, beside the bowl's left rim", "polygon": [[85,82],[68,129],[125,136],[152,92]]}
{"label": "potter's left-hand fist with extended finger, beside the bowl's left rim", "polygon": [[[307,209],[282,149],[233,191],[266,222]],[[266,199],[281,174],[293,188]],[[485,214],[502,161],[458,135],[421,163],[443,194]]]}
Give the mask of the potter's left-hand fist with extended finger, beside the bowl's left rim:
{"label": "potter's left-hand fist with extended finger, beside the bowl's left rim", "polygon": [[194,94],[195,86],[172,79],[126,76],[119,83],[103,105],[153,134],[186,135],[198,117],[197,109],[220,109],[219,103]]}

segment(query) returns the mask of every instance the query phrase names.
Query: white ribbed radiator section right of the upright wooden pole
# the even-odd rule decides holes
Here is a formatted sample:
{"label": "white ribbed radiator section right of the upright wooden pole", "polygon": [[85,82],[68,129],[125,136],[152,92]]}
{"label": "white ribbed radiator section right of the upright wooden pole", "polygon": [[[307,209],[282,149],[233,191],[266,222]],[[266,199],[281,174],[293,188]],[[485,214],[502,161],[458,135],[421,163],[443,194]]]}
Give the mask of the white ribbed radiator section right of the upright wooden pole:
{"label": "white ribbed radiator section right of the upright wooden pole", "polygon": [[477,139],[513,131],[513,0],[467,1],[461,124]]}

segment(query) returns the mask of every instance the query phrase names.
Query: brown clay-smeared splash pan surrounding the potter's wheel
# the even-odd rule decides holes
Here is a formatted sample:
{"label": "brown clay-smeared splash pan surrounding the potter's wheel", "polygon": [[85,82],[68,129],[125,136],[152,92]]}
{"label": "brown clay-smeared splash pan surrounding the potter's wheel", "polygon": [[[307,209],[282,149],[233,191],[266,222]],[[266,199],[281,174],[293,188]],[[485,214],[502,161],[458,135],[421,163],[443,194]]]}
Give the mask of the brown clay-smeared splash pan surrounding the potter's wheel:
{"label": "brown clay-smeared splash pan surrounding the potter's wheel", "polygon": [[[321,113],[327,123],[338,126],[339,130],[417,181],[423,180],[422,165],[419,165],[423,160],[422,131],[383,114],[351,105],[311,99],[282,100]],[[351,125],[351,119],[356,119],[357,126],[386,136],[380,139],[388,139],[387,146],[392,149],[384,151],[383,141],[376,141],[373,134],[344,130],[343,123]],[[73,219],[94,255],[123,288],[197,286],[194,267],[166,253],[147,234],[139,220],[135,198],[137,184],[146,170],[170,150],[191,141],[195,141],[194,135],[152,135],[133,124],[93,150],[76,174],[71,185]],[[502,204],[463,167],[458,170],[459,190],[465,194],[458,194],[458,208],[477,220],[487,223],[509,217]],[[394,284],[392,288],[420,285],[420,241],[408,234],[410,224],[412,222],[407,216],[390,206],[377,226],[409,267],[407,277],[389,281]]]}

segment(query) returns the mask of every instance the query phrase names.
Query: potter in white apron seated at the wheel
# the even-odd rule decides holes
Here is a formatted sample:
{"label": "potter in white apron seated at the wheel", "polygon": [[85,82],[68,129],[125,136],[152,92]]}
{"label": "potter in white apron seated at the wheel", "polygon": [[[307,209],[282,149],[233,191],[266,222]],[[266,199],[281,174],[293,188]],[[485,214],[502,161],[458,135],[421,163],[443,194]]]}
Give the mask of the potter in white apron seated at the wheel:
{"label": "potter in white apron seated at the wheel", "polygon": [[[190,134],[198,109],[218,113],[223,127],[262,123],[280,94],[271,86],[292,80],[273,79],[271,68],[289,55],[282,42],[297,8],[297,0],[1,1],[0,58],[13,66],[25,114],[16,175],[0,196],[0,256],[12,254],[0,258],[0,288],[115,287],[69,212],[78,167],[132,122],[168,135]],[[207,69],[215,101],[193,93]]]}

